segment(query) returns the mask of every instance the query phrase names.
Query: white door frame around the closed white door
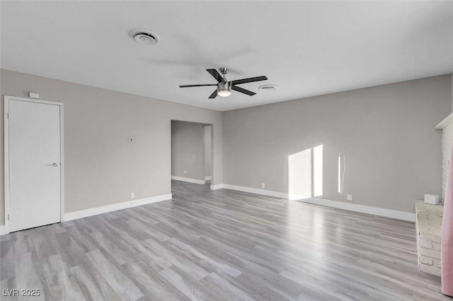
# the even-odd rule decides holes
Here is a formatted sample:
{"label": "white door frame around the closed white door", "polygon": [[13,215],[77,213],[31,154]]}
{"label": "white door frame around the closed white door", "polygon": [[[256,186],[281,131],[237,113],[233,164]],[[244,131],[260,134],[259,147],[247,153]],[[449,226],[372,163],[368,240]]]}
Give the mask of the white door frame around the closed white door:
{"label": "white door frame around the closed white door", "polygon": [[62,102],[53,102],[35,98],[20,98],[16,96],[4,96],[4,199],[5,199],[5,234],[9,233],[9,101],[19,100],[25,102],[37,102],[47,105],[59,106],[59,152],[60,152],[60,221],[64,221],[64,105]]}

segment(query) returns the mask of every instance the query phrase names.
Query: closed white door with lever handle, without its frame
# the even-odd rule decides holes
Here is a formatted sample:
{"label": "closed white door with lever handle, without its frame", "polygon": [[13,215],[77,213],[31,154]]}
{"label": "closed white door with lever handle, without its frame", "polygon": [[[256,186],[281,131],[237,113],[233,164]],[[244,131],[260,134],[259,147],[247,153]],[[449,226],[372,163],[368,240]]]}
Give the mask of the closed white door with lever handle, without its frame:
{"label": "closed white door with lever handle, without its frame", "polygon": [[9,100],[9,230],[60,221],[59,105]]}

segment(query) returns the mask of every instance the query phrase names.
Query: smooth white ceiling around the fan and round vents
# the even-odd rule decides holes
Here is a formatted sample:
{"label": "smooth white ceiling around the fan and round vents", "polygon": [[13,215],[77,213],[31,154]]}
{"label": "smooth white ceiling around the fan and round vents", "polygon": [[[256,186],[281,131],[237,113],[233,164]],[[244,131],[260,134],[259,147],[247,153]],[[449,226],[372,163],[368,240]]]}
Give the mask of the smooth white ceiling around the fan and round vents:
{"label": "smooth white ceiling around the fan and round vents", "polygon": [[[161,42],[139,45],[132,28]],[[178,88],[222,66],[269,80],[241,85],[253,97]],[[233,110],[451,73],[453,2],[1,1],[1,68]]]}

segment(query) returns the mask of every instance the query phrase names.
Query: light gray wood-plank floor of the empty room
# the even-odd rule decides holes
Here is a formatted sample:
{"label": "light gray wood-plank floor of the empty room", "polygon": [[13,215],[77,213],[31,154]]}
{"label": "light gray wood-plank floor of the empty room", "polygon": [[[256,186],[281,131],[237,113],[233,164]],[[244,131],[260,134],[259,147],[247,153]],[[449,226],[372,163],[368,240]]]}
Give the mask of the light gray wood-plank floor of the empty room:
{"label": "light gray wood-plank floor of the empty room", "polygon": [[418,271],[413,223],[184,182],[0,241],[0,288],[28,300],[452,300]]}

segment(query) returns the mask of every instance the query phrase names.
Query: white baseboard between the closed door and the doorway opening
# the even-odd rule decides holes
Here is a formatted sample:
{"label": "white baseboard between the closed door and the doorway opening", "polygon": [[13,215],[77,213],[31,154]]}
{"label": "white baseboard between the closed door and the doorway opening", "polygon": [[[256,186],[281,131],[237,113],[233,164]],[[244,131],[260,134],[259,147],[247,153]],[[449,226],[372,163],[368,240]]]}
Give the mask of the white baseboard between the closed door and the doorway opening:
{"label": "white baseboard between the closed door and the doorway opening", "polygon": [[125,201],[122,203],[113,203],[111,205],[89,208],[81,211],[74,211],[69,213],[64,213],[62,222],[67,222],[69,220],[76,220],[78,218],[86,218],[87,216],[97,216],[101,213],[107,213],[112,211],[117,211],[126,208],[132,208],[136,206],[146,205],[148,203],[156,203],[158,201],[166,201],[171,199],[171,194],[163,194],[161,196],[151,196],[146,199],[137,199],[133,201]]}

